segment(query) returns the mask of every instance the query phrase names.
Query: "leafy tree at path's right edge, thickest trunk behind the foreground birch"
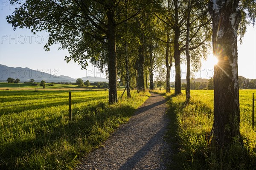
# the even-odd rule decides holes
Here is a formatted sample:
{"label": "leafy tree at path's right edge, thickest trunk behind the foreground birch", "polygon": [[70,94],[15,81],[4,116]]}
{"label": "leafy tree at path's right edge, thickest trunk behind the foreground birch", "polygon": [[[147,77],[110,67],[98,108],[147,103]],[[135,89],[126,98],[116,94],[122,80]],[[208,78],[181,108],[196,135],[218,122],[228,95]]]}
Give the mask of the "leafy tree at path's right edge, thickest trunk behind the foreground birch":
{"label": "leafy tree at path's right edge, thickest trunk behind the foreground birch", "polygon": [[[195,50],[204,45],[205,42],[209,41],[210,34],[208,31],[204,35],[201,34],[202,30],[206,30],[205,28],[210,25],[209,16],[207,16],[207,1],[194,1],[194,5],[191,6],[192,9],[191,15],[193,15],[193,18],[191,18],[190,25],[193,25],[193,27],[189,29],[189,42],[191,42],[189,50]],[[158,11],[158,13],[155,13],[157,18],[165,23],[166,26],[169,26],[172,31],[170,37],[170,44],[172,46],[170,47],[173,49],[173,58],[175,60],[175,95],[181,94],[180,64],[181,54],[186,50],[187,11],[186,1],[167,0],[163,3],[163,12]],[[202,57],[202,53],[199,53],[198,56]]]}

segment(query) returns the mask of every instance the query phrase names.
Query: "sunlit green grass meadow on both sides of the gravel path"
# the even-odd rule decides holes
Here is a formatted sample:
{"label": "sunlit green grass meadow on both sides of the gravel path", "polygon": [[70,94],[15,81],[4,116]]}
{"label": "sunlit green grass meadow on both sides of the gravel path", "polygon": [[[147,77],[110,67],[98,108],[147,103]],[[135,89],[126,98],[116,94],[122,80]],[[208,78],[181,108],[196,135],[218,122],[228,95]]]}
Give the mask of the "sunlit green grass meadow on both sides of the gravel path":
{"label": "sunlit green grass meadow on both sides of the gravel path", "polygon": [[[3,87],[3,84],[1,84]],[[23,86],[0,91],[0,169],[74,169],[79,160],[102,146],[120,124],[148,98],[132,91],[119,102],[108,104],[108,91],[76,88],[72,91],[73,118],[69,120],[69,94],[64,87],[39,89]],[[4,87],[6,88],[6,87]],[[27,90],[29,88],[29,90]],[[61,89],[60,89],[61,88]],[[229,148],[212,146],[207,140],[213,122],[213,91],[192,90],[191,102],[174,91],[154,91],[168,99],[170,125],[166,140],[174,154],[170,169],[255,170],[256,127],[252,129],[252,93],[240,90],[240,132],[243,144]],[[182,91],[185,93],[184,91]],[[256,110],[255,110],[256,111]]]}

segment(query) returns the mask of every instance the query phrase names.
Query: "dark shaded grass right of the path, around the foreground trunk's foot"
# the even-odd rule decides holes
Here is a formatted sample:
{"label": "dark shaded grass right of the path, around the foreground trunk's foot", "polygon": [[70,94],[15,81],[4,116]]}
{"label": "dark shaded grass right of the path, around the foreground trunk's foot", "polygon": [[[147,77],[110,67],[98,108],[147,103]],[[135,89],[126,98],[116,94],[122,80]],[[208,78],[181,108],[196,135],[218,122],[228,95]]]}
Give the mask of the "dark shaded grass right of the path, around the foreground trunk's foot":
{"label": "dark shaded grass right of the path, around the foreground trunk's foot", "polygon": [[[180,102],[173,102],[173,97],[175,95],[171,95],[167,102],[170,124],[166,139],[174,149],[174,154],[170,159],[175,162],[170,165],[170,169],[255,169],[256,155],[239,144],[238,141],[235,141],[229,147],[216,146],[212,145],[207,138],[206,133],[209,132],[196,133],[190,130],[191,133],[189,133],[188,129],[185,129],[187,132],[183,131],[184,134],[181,136],[180,128],[186,128],[186,126],[179,127],[180,120],[178,120],[177,114],[178,112],[187,112],[184,110],[186,103],[181,100]],[[213,114],[212,108],[207,107],[203,102],[196,101],[190,102],[190,104],[195,105],[195,111],[198,111],[198,114],[204,113],[206,116]],[[195,143],[189,144],[189,139],[194,139]]]}

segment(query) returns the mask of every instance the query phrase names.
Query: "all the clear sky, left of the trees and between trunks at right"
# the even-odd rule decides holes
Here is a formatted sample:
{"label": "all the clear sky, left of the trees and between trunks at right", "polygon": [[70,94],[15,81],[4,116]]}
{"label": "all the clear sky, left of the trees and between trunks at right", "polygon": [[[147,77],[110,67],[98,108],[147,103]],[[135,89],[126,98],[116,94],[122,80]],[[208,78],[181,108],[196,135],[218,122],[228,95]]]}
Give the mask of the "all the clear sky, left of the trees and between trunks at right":
{"label": "all the clear sky, left of the trees and between trunks at right", "polygon": [[[97,68],[89,64],[86,70],[74,63],[66,63],[64,57],[68,55],[66,50],[58,50],[59,44],[53,45],[50,51],[44,51],[43,47],[47,43],[47,32],[40,32],[33,35],[28,29],[13,28],[6,21],[6,16],[12,14],[15,6],[9,4],[8,0],[0,0],[0,64],[9,67],[28,67],[35,70],[44,71],[57,76],[65,75],[72,78],[86,76],[105,77]],[[238,44],[238,67],[239,75],[256,79],[256,27],[248,26],[243,43]],[[202,61],[201,70],[196,78],[213,77],[214,59],[208,57],[207,61]],[[186,78],[186,65],[181,65],[182,79]],[[175,69],[172,68],[171,81],[175,78]]]}

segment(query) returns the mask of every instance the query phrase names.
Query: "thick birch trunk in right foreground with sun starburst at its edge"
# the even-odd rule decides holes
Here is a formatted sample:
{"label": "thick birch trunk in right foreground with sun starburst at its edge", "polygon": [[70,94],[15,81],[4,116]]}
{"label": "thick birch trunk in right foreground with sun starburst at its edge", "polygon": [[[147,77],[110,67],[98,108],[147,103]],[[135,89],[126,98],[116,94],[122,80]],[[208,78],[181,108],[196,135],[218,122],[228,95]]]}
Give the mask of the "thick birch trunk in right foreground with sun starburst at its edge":
{"label": "thick birch trunk in right foreground with sun starburst at its edge", "polygon": [[239,0],[209,0],[212,14],[214,67],[213,140],[220,145],[240,138],[237,29],[241,21]]}

